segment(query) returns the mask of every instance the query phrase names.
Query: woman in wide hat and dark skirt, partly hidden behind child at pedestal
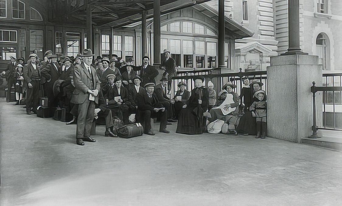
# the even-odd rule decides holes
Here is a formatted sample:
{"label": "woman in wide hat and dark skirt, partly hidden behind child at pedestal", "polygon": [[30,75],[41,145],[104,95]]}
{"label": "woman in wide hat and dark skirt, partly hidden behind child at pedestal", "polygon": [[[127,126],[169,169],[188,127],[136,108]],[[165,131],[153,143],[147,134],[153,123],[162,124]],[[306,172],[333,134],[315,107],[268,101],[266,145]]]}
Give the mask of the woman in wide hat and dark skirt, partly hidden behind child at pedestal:
{"label": "woman in wide hat and dark skirt, partly hidden behind child at pedestal", "polygon": [[[257,79],[253,79],[252,83],[249,84],[250,88],[252,89],[251,98],[252,102],[255,101],[254,93],[261,90],[261,86],[264,85]],[[257,134],[257,120],[255,117],[252,116],[251,111],[246,111],[244,115],[242,115],[239,125],[236,127],[236,131],[239,134],[243,135],[256,135]]]}

